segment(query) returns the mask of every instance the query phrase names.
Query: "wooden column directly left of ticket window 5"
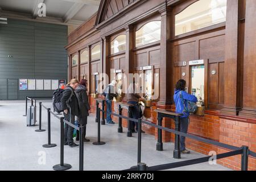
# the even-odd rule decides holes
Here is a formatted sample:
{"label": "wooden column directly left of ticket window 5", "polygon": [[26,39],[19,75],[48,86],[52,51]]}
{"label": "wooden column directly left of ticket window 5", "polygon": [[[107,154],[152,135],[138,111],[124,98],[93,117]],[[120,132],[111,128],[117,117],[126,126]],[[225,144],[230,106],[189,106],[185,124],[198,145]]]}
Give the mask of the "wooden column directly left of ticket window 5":
{"label": "wooden column directly left of ticket window 5", "polygon": [[160,40],[160,100],[158,105],[171,105],[173,102],[174,63],[171,60],[171,10],[163,7],[161,14],[161,40]]}

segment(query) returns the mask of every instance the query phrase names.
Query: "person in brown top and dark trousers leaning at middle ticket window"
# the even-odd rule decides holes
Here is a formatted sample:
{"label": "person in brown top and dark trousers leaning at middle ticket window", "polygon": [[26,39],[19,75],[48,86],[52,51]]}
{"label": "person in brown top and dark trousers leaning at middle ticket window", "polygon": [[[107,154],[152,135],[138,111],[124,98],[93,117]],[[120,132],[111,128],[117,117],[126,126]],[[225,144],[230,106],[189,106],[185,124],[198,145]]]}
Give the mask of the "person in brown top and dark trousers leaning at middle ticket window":
{"label": "person in brown top and dark trousers leaning at middle ticket window", "polygon": [[[133,119],[139,119],[142,118],[142,110],[141,106],[139,106],[139,101],[144,100],[142,96],[139,94],[135,93],[135,82],[133,84],[129,85],[128,92],[127,92],[127,103],[132,104],[133,107],[131,107],[131,114]],[[131,122],[131,131],[133,133],[138,132],[138,122]],[[142,133],[145,133],[143,130],[141,131]]]}

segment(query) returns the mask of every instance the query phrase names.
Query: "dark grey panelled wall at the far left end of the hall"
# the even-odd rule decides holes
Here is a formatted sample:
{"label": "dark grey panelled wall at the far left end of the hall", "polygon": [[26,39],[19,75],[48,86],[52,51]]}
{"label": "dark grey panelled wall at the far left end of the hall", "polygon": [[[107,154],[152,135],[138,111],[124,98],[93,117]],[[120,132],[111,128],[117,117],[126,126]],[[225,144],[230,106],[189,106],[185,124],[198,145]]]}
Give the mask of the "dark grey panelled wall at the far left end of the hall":
{"label": "dark grey panelled wall at the far left end of the hall", "polygon": [[[67,26],[15,19],[0,24],[0,100],[7,99],[7,79],[67,80],[65,45]],[[15,98],[15,93],[10,93]],[[53,90],[18,90],[18,98],[52,93]]]}

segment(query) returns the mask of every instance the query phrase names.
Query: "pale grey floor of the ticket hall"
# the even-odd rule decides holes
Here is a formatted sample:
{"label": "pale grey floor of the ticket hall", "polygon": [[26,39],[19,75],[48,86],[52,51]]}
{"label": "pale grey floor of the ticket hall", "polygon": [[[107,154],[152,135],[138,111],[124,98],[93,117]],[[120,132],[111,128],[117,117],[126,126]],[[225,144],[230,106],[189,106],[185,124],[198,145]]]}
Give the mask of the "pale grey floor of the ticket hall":
{"label": "pale grey floor of the ticket hall", "polygon": [[[51,101],[43,103],[51,107]],[[34,130],[38,129],[38,126],[26,127],[24,107],[24,101],[0,101],[0,170],[52,170],[52,166],[60,163],[60,122],[51,117],[51,141],[56,143],[57,147],[43,148],[42,144],[47,143],[47,131],[36,133]],[[46,110],[43,110],[42,114],[42,127],[47,129]],[[137,164],[137,134],[127,138],[125,128],[124,133],[117,133],[117,125],[101,126],[101,139],[106,144],[94,146],[92,142],[97,140],[97,123],[94,117],[89,117],[88,122],[87,138],[91,142],[84,145],[84,170],[122,170]],[[182,159],[177,160],[172,158],[174,144],[164,143],[162,152],[155,150],[155,144],[153,136],[142,135],[142,162],[147,166],[204,156],[192,151],[191,155],[182,155]],[[78,170],[79,148],[64,146],[64,162],[72,165],[71,170]],[[203,163],[175,170],[230,169],[218,164]]]}

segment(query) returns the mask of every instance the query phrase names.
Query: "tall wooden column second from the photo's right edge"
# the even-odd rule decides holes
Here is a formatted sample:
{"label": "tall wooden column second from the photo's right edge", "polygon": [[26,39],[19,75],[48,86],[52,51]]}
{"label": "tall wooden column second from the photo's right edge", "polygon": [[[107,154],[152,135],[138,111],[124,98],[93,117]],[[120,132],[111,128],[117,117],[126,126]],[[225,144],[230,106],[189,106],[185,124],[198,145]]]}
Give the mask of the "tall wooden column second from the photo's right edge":
{"label": "tall wooden column second from the photo's right edge", "polygon": [[[242,0],[243,1],[243,0]],[[244,16],[240,0],[227,1],[226,35],[225,35],[225,104],[221,114],[238,115],[241,111],[242,80],[241,63],[243,61],[242,23],[239,19]]]}

